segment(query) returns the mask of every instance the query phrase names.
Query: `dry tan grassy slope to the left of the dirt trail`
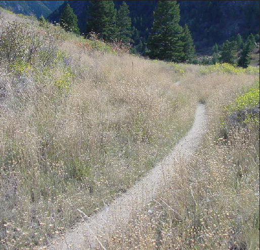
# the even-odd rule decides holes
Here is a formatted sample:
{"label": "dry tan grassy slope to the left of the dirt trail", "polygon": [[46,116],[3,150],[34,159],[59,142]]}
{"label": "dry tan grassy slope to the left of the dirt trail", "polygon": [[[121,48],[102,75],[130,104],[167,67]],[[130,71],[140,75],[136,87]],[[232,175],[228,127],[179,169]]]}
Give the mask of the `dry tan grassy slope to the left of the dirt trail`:
{"label": "dry tan grassy slope to the left of the dirt trail", "polygon": [[235,95],[255,78],[197,73],[1,14],[3,249],[40,248],[80,219],[77,208],[98,211],[185,135],[198,100]]}

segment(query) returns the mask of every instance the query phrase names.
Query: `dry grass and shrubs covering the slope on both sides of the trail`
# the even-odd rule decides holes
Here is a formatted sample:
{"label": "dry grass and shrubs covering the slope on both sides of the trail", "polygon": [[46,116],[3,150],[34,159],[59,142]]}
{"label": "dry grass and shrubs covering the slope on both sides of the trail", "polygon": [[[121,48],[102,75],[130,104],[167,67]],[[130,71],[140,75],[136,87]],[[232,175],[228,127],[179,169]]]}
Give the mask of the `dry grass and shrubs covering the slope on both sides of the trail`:
{"label": "dry grass and shrubs covering the slope on both sides of the trail", "polygon": [[255,242],[259,119],[247,117],[247,126],[231,130],[221,108],[247,91],[259,68],[148,60],[4,10],[0,27],[1,249],[46,249],[54,235],[80,221],[76,209],[89,216],[124,193],[187,133],[198,101],[207,106],[210,131],[162,191],[172,209],[157,206],[151,222],[136,224],[151,232],[134,228],[137,245],[129,226],[122,234],[128,236],[119,232],[107,247],[205,249],[197,242],[174,246],[167,235],[186,242],[180,236],[186,228],[202,241],[204,230],[220,223],[218,232],[232,224],[243,244]]}

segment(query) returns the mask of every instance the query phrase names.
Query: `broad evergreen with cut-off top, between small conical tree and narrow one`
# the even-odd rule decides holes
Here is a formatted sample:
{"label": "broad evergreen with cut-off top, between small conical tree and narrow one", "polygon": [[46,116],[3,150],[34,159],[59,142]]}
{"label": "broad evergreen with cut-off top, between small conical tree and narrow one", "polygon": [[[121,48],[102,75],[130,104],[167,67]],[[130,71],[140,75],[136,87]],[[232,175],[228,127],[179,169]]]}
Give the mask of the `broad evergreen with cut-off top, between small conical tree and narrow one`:
{"label": "broad evergreen with cut-off top, between small conical tree and narrow one", "polygon": [[113,41],[117,36],[116,9],[113,1],[89,1],[86,33],[95,32],[104,41]]}

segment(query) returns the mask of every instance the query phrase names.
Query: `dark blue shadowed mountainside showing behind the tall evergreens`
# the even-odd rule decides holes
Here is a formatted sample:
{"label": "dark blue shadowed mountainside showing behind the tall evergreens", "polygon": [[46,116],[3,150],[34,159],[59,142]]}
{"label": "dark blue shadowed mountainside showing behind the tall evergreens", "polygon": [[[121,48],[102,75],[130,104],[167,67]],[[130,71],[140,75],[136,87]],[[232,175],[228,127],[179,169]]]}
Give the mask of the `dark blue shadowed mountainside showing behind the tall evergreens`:
{"label": "dark blue shadowed mountainside showing behind the tall evergreens", "polygon": [[[153,11],[157,1],[125,1],[129,6],[132,25],[140,33],[140,39],[147,42],[153,23]],[[78,16],[78,25],[84,32],[88,1],[68,1]],[[122,1],[114,1],[118,9]],[[247,37],[259,33],[258,1],[178,1],[181,10],[181,25],[188,24],[196,49],[199,52],[213,44],[222,44],[233,35],[240,33]],[[59,21],[61,6],[49,16],[51,21]],[[138,44],[138,40],[135,41]]]}

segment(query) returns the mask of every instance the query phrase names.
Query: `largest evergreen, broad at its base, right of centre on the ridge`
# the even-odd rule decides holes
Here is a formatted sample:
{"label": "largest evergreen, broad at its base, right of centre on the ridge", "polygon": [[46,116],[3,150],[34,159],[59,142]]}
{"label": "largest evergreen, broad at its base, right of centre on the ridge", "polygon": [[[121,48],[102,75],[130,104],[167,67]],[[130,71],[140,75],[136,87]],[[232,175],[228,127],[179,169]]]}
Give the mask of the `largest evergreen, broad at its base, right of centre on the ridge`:
{"label": "largest evergreen, broad at its base, right of centre on the ridge", "polygon": [[158,1],[152,32],[148,38],[151,58],[180,62],[183,60],[182,27],[177,1]]}

